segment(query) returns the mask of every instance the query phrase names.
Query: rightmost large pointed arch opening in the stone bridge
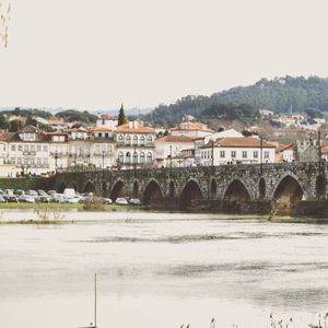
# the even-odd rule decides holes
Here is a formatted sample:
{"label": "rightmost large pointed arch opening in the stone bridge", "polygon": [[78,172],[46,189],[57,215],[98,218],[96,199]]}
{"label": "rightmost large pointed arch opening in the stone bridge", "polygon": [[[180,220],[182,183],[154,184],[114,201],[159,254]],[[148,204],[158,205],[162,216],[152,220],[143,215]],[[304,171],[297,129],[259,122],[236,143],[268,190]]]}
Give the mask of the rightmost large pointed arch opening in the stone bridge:
{"label": "rightmost large pointed arch opening in the stone bridge", "polygon": [[277,184],[272,199],[278,203],[291,206],[296,201],[302,200],[304,194],[305,192],[297,178],[290,174],[286,174]]}

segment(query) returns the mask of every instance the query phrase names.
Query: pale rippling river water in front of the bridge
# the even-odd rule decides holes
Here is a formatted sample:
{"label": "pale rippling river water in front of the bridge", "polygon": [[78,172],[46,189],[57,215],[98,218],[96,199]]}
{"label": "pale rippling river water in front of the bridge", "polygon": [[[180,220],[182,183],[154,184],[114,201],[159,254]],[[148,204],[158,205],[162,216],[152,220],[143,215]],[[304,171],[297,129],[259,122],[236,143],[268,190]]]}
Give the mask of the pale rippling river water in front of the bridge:
{"label": "pale rippling river water in front of the bridge", "polygon": [[94,272],[101,328],[202,328],[212,317],[215,327],[290,317],[289,327],[307,327],[328,312],[328,224],[152,212],[65,219],[0,225],[0,327],[90,326]]}

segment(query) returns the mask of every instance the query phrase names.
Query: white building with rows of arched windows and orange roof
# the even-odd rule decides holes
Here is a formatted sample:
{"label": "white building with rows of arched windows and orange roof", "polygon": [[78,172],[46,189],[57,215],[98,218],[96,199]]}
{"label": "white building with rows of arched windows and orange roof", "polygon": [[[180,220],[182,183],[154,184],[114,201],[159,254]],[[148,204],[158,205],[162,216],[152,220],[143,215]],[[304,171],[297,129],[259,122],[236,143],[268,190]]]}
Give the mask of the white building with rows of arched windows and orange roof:
{"label": "white building with rows of arched windows and orange roof", "polygon": [[121,168],[152,166],[154,164],[155,131],[138,120],[115,130],[116,162]]}

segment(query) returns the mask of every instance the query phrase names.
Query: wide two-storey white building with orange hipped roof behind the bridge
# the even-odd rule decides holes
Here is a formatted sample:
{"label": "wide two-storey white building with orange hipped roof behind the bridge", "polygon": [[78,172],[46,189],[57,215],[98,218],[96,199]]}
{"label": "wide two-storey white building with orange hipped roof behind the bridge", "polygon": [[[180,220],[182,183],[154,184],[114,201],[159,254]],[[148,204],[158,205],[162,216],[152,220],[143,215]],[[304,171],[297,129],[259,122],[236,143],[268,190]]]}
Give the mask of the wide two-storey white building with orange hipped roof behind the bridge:
{"label": "wide two-storey white building with orange hipped roof behind the bridge", "polygon": [[276,147],[258,138],[223,138],[204,144],[200,161],[203,166],[274,163],[274,155]]}

